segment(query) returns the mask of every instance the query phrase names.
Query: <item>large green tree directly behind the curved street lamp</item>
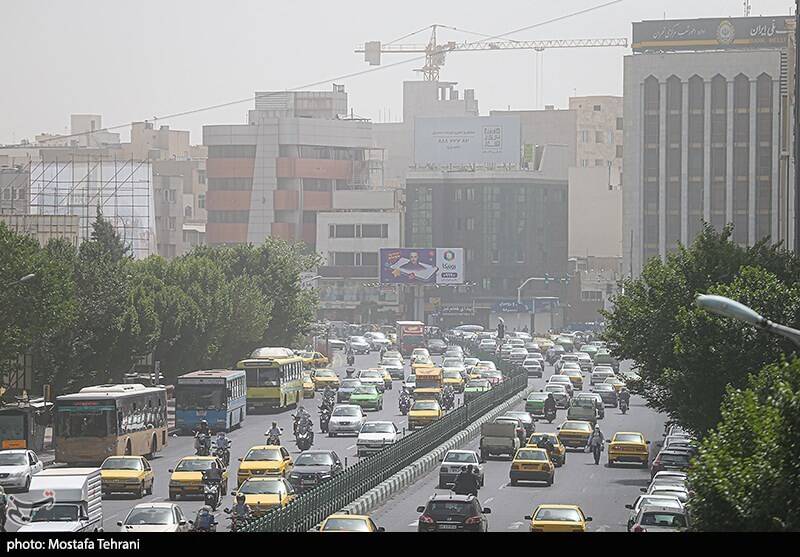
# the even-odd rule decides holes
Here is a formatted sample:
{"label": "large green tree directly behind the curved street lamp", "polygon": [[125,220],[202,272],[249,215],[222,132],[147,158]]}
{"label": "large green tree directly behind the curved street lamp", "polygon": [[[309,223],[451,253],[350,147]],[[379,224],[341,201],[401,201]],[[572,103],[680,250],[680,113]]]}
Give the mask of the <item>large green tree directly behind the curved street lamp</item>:
{"label": "large green tree directly behind the curved street lamp", "polygon": [[727,384],[742,386],[749,373],[794,347],[710,316],[695,307],[697,293],[728,295],[790,325],[800,319],[792,297],[800,276],[797,256],[766,240],[743,248],[731,233],[731,226],[716,232],[706,225],[691,247],[664,262],[651,259],[640,278],[623,281],[624,293],[604,312],[606,338],[617,344],[619,357],[639,368],[632,390],[698,433],[719,419]]}

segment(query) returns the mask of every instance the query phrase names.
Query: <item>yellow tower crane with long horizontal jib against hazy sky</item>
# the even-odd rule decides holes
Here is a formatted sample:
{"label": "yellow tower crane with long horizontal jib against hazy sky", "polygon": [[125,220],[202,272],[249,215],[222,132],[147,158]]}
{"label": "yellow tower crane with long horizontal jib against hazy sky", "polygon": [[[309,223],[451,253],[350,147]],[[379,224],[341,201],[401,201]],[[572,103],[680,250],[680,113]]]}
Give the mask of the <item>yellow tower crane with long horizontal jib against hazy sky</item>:
{"label": "yellow tower crane with long horizontal jib against hazy sky", "polygon": [[600,48],[627,47],[628,39],[551,39],[541,41],[514,41],[487,39],[475,42],[449,41],[445,44],[436,42],[436,28],[444,25],[431,25],[431,38],[427,45],[423,44],[381,44],[380,41],[364,43],[355,49],[356,53],[364,53],[364,61],[370,66],[381,64],[381,54],[425,54],[425,65],[415,71],[422,72],[425,81],[439,81],[439,70],[444,66],[448,52],[475,52],[481,50],[535,50],[541,52],[551,48]]}

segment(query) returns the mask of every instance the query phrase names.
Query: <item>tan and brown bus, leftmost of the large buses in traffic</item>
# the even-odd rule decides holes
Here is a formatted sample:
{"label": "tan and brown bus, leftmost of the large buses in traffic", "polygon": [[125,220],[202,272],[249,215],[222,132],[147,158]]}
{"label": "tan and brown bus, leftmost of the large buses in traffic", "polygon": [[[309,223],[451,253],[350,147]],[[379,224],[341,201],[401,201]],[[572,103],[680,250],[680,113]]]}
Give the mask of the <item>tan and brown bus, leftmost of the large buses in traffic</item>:
{"label": "tan and brown bus, leftmost of the large buses in traffic", "polygon": [[107,457],[152,457],[167,445],[167,390],[98,385],[56,398],[56,462],[94,465]]}

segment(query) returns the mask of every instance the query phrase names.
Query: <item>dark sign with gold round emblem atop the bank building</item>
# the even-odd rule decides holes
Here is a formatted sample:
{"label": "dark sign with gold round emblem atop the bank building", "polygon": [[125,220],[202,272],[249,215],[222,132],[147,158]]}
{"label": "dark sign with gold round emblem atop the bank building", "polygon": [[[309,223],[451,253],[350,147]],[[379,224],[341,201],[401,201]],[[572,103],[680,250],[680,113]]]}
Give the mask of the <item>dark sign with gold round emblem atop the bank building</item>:
{"label": "dark sign with gold round emblem atop the bank building", "polygon": [[790,20],[784,16],[640,21],[633,24],[633,50],[786,47]]}

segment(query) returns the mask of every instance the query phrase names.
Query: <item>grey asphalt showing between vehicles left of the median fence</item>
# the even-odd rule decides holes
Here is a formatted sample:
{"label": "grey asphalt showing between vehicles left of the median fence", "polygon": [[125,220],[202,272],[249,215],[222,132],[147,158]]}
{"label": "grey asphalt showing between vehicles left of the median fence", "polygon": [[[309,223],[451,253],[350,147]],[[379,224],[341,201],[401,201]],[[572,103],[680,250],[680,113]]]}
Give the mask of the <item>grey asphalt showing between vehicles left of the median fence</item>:
{"label": "grey asphalt showing between vehicles left of the median fence", "polygon": [[[341,378],[345,377],[345,368],[347,367],[344,361],[344,355],[341,352],[335,352],[333,369],[338,373]],[[356,356],[355,368],[365,369],[374,367],[378,363],[377,353],[369,355]],[[408,361],[406,361],[406,375],[410,372]],[[398,397],[400,392],[400,382],[395,381],[392,390],[387,390],[384,393],[383,410],[381,411],[368,411],[368,420],[386,420],[393,421],[401,431],[406,427],[406,417],[400,414],[398,409]],[[320,404],[321,393],[316,393],[314,399],[305,399],[303,406],[311,413],[314,421],[314,446],[313,449],[333,449],[337,452],[339,457],[344,461],[346,459],[347,465],[352,465],[358,462],[356,456],[356,437],[341,437],[330,438],[320,432],[317,407]],[[218,530],[228,530],[230,521],[227,520],[227,515],[222,512],[225,507],[231,507],[234,504],[234,499],[230,495],[230,490],[236,488],[236,471],[238,470],[238,458],[243,457],[248,449],[254,445],[263,445],[266,442],[264,432],[269,429],[273,421],[278,422],[278,426],[282,427],[284,434],[281,437],[281,443],[289,448],[292,458],[295,459],[300,451],[294,443],[292,436],[292,413],[293,410],[286,410],[281,413],[275,414],[248,414],[240,429],[234,430],[228,434],[229,439],[232,441],[231,445],[231,464],[228,467],[228,495],[223,498],[222,505],[217,511],[217,520],[219,521]],[[410,433],[408,433],[410,434]],[[155,472],[155,486],[153,495],[145,496],[137,499],[133,496],[126,495],[112,495],[103,498],[103,528],[106,532],[117,532],[120,530],[117,526],[117,521],[124,520],[130,509],[139,504],[146,502],[169,502],[169,469],[174,468],[178,461],[185,457],[194,454],[194,439],[192,437],[172,436],[169,439],[167,447],[158,453],[152,461],[153,470]],[[183,510],[184,514],[193,520],[195,514],[203,506],[202,498],[197,499],[178,499],[174,501]]]}

